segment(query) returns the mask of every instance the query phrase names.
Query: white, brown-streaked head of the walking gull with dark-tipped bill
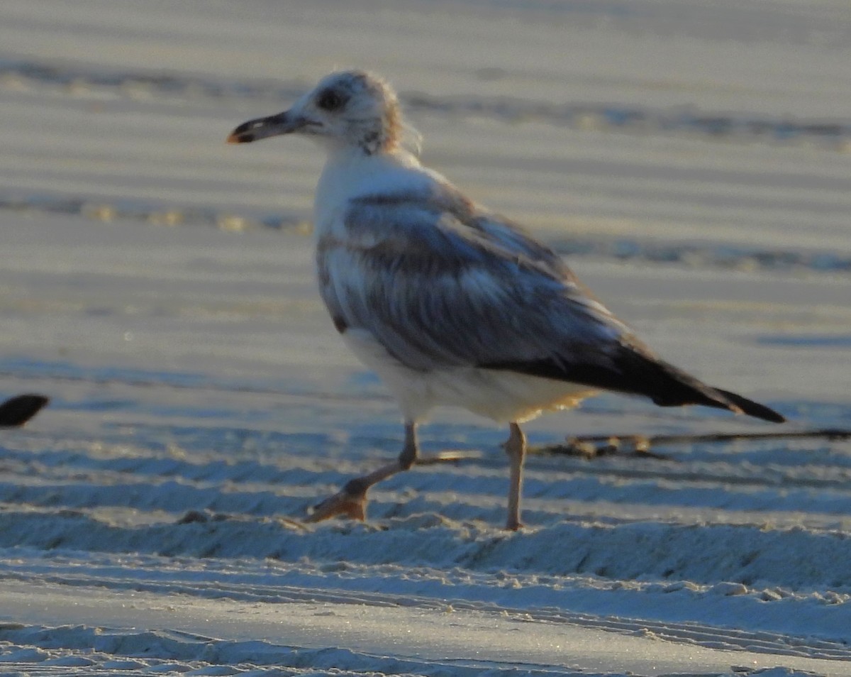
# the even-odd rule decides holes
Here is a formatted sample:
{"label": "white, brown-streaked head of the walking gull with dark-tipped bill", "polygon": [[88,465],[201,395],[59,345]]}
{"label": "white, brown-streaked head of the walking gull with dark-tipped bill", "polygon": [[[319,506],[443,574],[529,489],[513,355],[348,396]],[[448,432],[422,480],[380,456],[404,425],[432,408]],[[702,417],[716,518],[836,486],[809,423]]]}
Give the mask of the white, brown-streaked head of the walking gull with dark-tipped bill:
{"label": "white, brown-streaked head of the walking gull with dark-tipped bill", "polygon": [[334,148],[368,155],[397,148],[402,135],[399,100],[390,84],[364,71],[334,72],[284,112],[248,120],[231,132],[228,143],[300,134]]}

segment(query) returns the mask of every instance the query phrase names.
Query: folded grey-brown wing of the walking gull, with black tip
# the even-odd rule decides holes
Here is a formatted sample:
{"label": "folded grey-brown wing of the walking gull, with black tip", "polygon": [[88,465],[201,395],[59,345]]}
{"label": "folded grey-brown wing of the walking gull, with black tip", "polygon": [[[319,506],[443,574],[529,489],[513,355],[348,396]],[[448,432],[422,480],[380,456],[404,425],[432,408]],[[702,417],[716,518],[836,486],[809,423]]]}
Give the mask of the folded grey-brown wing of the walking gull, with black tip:
{"label": "folded grey-brown wing of the walking gull, with black tip", "polygon": [[552,250],[465,201],[352,200],[317,248],[340,330],[372,334],[414,370],[478,367],[706,404],[774,420],[658,359]]}

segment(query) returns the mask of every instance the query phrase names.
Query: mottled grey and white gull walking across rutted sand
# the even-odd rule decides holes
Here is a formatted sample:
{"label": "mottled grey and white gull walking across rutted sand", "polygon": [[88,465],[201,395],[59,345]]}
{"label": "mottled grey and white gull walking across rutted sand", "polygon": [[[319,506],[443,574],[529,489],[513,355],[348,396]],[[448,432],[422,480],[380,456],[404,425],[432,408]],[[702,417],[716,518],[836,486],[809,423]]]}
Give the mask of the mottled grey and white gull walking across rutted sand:
{"label": "mottled grey and white gull walking across rutted sand", "polygon": [[438,405],[508,424],[511,531],[522,526],[520,424],[545,411],[604,390],[785,420],[657,357],[553,250],[420,164],[409,129],[391,85],[353,70],[228,137],[298,134],[325,147],[314,202],[319,290],[343,341],[403,413],[397,462],[351,479],[313,521],[365,519],[368,489],[418,461],[417,426]]}

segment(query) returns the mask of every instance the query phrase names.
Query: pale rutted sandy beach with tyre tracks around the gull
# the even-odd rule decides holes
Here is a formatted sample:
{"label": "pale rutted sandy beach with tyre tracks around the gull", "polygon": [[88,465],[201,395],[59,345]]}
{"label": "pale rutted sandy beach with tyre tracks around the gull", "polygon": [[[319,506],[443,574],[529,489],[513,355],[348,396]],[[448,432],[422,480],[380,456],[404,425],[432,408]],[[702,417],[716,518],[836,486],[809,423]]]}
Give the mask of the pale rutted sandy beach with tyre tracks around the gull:
{"label": "pale rutted sandy beach with tyre tracks around the gull", "polygon": [[[851,443],[528,461],[456,410],[365,524],[304,524],[403,428],[317,293],[303,139],[341,67],[665,359],[851,428],[851,7],[768,0],[5,0],[2,674],[851,674]],[[528,425],[776,432],[614,394]]]}

